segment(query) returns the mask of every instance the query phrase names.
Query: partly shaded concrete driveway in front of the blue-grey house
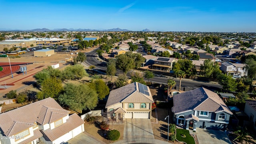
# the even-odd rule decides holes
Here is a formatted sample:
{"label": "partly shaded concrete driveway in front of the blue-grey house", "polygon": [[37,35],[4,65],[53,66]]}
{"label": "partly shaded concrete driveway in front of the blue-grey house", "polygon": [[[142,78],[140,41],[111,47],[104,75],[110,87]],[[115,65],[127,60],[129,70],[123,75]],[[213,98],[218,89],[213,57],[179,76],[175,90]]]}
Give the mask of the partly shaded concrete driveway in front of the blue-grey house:
{"label": "partly shaded concrete driveway in front of the blue-grey house", "polygon": [[232,144],[226,132],[220,130],[196,128],[199,144]]}

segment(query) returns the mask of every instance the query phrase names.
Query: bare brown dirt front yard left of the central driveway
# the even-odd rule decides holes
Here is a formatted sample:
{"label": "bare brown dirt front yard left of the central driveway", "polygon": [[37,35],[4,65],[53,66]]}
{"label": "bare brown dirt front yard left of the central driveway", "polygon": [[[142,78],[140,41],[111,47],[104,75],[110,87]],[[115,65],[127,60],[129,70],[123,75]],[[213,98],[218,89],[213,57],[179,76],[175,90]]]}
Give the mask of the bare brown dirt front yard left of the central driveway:
{"label": "bare brown dirt front yard left of the central driveway", "polygon": [[[98,122],[102,122],[102,117],[98,118]],[[109,128],[110,129],[114,128],[115,130],[118,130],[120,132],[119,140],[123,140],[123,138],[124,138],[124,123],[122,123],[122,124],[113,124],[113,127],[112,127],[112,123],[110,123]],[[86,132],[88,132],[90,135],[97,138],[98,140],[101,140],[101,141],[103,141],[107,144],[112,143],[112,141],[107,140],[106,138],[104,138],[104,134],[108,130],[101,130],[96,122],[94,124],[90,124],[90,123],[85,121],[84,130]]]}

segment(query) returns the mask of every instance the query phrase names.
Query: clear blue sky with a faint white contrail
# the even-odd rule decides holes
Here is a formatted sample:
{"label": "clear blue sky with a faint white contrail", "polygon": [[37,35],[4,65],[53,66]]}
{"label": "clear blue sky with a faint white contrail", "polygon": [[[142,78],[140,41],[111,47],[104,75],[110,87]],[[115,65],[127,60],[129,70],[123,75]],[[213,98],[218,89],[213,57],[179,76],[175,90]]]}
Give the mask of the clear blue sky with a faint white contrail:
{"label": "clear blue sky with a faint white contrail", "polygon": [[0,0],[0,28],[256,32],[256,0]]}

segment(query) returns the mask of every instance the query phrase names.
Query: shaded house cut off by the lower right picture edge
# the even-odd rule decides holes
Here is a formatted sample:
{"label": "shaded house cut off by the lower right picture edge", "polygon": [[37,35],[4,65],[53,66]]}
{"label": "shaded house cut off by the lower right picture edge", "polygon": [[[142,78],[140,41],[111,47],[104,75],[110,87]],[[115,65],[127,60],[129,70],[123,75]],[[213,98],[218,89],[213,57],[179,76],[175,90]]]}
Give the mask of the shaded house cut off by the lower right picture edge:
{"label": "shaded house cut off by the lower right picture edge", "polygon": [[246,100],[244,113],[247,114],[249,120],[253,122],[253,128],[256,130],[256,100]]}

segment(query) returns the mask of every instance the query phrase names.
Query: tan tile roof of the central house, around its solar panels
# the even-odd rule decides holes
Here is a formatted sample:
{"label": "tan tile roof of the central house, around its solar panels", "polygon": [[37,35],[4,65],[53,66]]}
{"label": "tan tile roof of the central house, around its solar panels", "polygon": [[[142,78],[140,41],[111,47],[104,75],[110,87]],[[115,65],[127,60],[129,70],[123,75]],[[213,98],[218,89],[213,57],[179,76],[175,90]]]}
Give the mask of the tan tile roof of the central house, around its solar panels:
{"label": "tan tile roof of the central house, around its solar panels", "polygon": [[123,86],[121,88],[118,88],[116,90],[112,90],[108,96],[106,108],[109,106],[118,104],[120,102],[153,103],[154,100],[152,98],[150,89],[148,86],[146,86],[146,87],[148,89],[149,96],[147,96],[146,94],[142,94],[139,91],[138,82],[134,82],[134,83],[128,84],[126,86]]}

